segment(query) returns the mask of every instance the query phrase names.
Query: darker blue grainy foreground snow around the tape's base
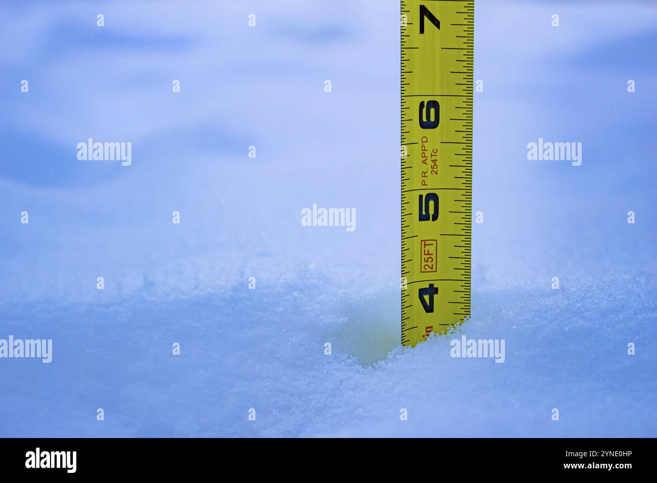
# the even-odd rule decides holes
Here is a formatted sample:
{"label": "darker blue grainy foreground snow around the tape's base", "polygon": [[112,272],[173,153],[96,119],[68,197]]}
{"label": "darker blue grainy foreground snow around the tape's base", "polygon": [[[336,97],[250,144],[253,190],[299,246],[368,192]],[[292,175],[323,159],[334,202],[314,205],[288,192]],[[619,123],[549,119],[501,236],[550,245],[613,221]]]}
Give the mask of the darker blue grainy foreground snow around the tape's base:
{"label": "darker blue grainy foreground snow around the tape's base", "polygon": [[16,306],[10,332],[56,345],[3,361],[3,436],[654,436],[654,281],[476,290],[461,332],[505,339],[504,363],[450,357],[460,334],[401,349],[394,290],[247,290]]}

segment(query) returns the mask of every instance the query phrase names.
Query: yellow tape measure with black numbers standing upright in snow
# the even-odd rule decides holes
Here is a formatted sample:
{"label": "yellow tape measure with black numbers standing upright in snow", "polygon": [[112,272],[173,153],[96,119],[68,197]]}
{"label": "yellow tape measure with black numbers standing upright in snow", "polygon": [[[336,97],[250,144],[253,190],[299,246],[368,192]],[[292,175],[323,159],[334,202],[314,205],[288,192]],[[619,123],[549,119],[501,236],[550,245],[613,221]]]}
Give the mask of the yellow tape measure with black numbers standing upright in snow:
{"label": "yellow tape measure with black numbers standing upright in snow", "polygon": [[470,316],[474,1],[401,1],[401,343]]}

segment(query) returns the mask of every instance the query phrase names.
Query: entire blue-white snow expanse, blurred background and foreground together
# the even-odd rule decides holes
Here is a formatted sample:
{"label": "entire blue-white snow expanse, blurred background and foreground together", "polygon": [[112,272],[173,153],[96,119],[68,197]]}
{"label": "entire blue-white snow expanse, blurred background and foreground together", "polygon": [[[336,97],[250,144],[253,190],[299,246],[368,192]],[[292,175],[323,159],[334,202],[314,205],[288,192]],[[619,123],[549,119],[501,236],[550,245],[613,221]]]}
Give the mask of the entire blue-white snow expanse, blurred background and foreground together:
{"label": "entire blue-white snow expanse, blurred background and foreground together", "polygon": [[[657,11],[478,2],[473,316],[403,350],[383,4],[108,3],[101,32],[3,5],[0,338],[53,362],[0,359],[0,436],[657,436]],[[78,162],[88,137],[132,166]],[[528,161],[539,137],[582,165]],[[357,229],[302,227],[313,203]],[[505,362],[450,357],[461,334]]]}

